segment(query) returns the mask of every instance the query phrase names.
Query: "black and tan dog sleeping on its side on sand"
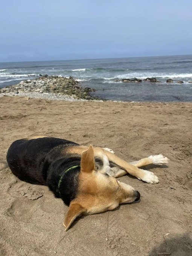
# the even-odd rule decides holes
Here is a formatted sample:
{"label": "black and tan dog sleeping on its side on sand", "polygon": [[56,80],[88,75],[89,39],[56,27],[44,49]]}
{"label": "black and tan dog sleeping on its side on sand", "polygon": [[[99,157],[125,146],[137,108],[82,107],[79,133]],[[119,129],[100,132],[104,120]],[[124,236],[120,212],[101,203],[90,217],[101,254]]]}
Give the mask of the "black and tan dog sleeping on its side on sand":
{"label": "black and tan dog sleeping on its side on sand", "polygon": [[153,172],[139,167],[163,165],[168,158],[150,155],[127,163],[108,148],[36,136],[13,142],[7,162],[20,180],[48,186],[55,197],[69,206],[63,221],[67,231],[79,215],[101,213],[122,203],[138,201],[139,192],[116,178],[129,173],[146,183],[158,183]]}

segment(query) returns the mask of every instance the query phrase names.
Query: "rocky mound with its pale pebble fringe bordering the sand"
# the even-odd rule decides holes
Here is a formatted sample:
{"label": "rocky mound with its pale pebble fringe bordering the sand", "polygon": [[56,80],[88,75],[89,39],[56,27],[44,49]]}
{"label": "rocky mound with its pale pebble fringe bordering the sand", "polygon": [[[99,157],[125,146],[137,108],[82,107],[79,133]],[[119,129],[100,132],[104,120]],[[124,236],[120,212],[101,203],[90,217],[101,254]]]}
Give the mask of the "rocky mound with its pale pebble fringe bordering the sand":
{"label": "rocky mound with its pale pebble fringe bordering the sand", "polygon": [[[28,96],[32,98],[81,101],[101,100],[90,95],[93,88],[82,87],[71,76],[41,75],[36,79],[28,79],[18,84],[0,88],[0,96]],[[103,100],[104,101],[104,100]]]}

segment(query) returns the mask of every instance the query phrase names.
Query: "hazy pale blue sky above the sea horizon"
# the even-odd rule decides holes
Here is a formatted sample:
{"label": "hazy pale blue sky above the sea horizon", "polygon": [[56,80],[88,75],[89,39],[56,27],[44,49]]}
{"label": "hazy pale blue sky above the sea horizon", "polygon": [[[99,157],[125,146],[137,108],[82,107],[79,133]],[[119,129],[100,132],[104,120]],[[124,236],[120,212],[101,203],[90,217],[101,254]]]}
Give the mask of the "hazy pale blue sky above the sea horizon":
{"label": "hazy pale blue sky above the sea horizon", "polygon": [[0,62],[192,54],[192,0],[7,0]]}

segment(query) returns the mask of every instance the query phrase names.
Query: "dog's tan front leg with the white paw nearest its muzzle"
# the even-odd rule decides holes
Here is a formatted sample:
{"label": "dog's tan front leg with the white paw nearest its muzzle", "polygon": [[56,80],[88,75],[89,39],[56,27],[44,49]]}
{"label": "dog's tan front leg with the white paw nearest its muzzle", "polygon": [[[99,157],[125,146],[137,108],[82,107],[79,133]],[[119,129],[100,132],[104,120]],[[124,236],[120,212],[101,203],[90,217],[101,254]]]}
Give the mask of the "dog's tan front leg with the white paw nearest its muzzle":
{"label": "dog's tan front leg with the white paw nearest its muzzle", "polygon": [[[114,155],[113,153],[106,151],[105,149],[94,148],[94,154],[98,156],[101,156],[102,154],[107,155],[108,160],[110,162],[113,162],[115,165],[119,166],[121,169],[125,170],[129,174],[137,177],[139,180],[142,180],[151,184],[155,184],[159,182],[158,177],[154,175],[153,172],[139,169],[137,168],[137,166],[127,163],[126,161],[122,160],[120,157],[117,157],[117,155]],[[116,178],[122,175],[125,175],[125,171],[121,169],[119,172],[116,173]]]}

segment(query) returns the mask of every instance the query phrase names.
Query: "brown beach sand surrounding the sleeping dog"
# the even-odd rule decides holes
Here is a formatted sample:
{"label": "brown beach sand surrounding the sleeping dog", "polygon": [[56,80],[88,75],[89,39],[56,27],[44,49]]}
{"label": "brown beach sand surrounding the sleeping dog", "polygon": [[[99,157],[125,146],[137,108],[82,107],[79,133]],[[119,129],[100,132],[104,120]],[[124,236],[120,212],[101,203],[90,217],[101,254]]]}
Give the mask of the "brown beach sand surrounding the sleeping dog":
{"label": "brown beach sand surrounding the sleeping dog", "polygon": [[27,99],[0,98],[1,160],[14,140],[46,135],[108,147],[129,162],[160,153],[170,162],[146,168],[159,184],[119,178],[139,190],[139,203],[79,218],[67,232],[62,200],[1,171],[1,256],[192,255],[192,103]]}

